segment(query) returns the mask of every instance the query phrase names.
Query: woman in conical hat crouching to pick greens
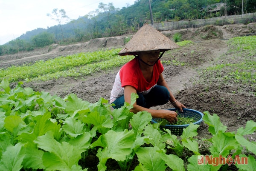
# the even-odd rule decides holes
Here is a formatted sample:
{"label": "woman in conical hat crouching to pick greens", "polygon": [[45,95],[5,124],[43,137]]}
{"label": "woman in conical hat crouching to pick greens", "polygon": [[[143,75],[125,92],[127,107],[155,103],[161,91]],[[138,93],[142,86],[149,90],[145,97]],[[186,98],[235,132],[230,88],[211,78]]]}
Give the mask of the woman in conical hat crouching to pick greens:
{"label": "woman in conical hat crouching to pick greens", "polygon": [[[125,45],[119,55],[134,55],[135,58],[126,63],[116,74],[111,91],[110,103],[113,108],[120,108],[124,102],[131,103],[131,94],[137,93],[139,98],[130,111],[148,111],[153,118],[164,118],[169,122],[177,122],[177,113],[169,110],[150,109],[152,106],[171,102],[175,108],[186,108],[178,102],[163,78],[163,65],[160,58],[164,51],[178,48],[169,38],[145,24]],[[160,54],[160,52],[162,52]]]}

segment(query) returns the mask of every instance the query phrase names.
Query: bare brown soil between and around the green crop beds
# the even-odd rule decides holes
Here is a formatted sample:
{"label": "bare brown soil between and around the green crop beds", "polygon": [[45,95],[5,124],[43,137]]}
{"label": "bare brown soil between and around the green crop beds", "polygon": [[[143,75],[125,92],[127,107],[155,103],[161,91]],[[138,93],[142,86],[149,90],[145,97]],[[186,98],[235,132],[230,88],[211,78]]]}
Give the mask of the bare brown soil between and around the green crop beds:
{"label": "bare brown soil between and around the green crop beds", "polygon": [[[224,85],[218,82],[207,85],[193,84],[193,82],[198,77],[197,71],[199,69],[214,65],[213,61],[228,51],[228,39],[249,34],[255,35],[256,26],[243,24],[205,26],[202,28],[164,31],[163,34],[172,39],[176,32],[182,34],[182,40],[195,42],[191,46],[184,46],[170,51],[162,57],[162,60],[176,59],[187,64],[183,67],[164,65],[164,77],[177,100],[186,105],[187,108],[217,114],[221,122],[227,125],[228,131],[236,131],[239,127],[245,126],[248,120],[255,122],[256,98],[249,93],[249,90],[246,91],[247,89],[244,88],[244,85]],[[19,54],[2,56],[0,57],[0,68],[33,63],[36,60],[48,60],[79,52],[95,51],[99,48],[123,47],[124,38],[127,36],[131,37],[132,35],[95,39],[86,43],[76,43],[68,46],[52,45],[29,53],[20,52]],[[35,91],[46,91],[61,97],[74,93],[83,100],[95,103],[100,97],[109,99],[119,68],[98,72],[79,79],[61,78],[40,83],[24,83],[24,85],[32,87]],[[245,91],[239,92],[239,87],[240,89],[243,87]],[[234,94],[232,93],[233,91],[239,93]],[[166,104],[155,108],[173,108],[173,106]],[[207,125],[202,123],[198,129],[198,136],[207,137],[209,136],[208,134]],[[256,141],[256,136],[253,135],[249,139]]]}

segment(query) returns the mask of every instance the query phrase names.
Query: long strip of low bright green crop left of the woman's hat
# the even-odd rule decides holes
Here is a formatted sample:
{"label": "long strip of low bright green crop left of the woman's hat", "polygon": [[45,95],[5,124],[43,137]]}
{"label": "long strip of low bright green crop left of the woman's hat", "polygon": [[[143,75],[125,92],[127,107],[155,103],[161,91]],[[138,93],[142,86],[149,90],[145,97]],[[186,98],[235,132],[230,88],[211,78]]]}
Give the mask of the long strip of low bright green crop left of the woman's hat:
{"label": "long strip of low bright green crop left of the woman's hat", "polygon": [[90,74],[99,69],[121,66],[134,57],[120,57],[120,48],[106,51],[94,51],[57,57],[47,61],[37,61],[34,64],[12,66],[0,69],[0,80],[8,78],[9,82],[20,80],[51,80],[58,77],[77,77]]}

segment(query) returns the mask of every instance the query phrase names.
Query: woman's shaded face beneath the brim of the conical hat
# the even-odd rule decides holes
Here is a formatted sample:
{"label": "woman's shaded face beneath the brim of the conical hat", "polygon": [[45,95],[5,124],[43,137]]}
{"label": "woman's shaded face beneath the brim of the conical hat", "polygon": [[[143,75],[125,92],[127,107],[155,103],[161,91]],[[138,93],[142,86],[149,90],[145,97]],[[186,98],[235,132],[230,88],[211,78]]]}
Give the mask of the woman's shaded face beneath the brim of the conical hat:
{"label": "woman's shaded face beneath the brim of the conical hat", "polygon": [[160,55],[160,51],[142,51],[139,53],[139,57],[148,65],[154,65]]}

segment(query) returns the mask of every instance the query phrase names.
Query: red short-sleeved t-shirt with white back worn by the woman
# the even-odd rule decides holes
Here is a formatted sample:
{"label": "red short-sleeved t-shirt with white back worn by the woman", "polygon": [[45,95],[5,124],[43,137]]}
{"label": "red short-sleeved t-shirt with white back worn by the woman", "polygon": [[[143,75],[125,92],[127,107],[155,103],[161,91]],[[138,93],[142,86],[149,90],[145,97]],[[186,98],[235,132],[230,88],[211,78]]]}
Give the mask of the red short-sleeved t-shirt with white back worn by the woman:
{"label": "red short-sleeved t-shirt with white back worn by the woman", "polygon": [[163,65],[160,60],[157,61],[153,66],[153,75],[151,82],[145,80],[143,73],[140,69],[139,59],[134,58],[133,60],[126,63],[120,71],[116,74],[115,83],[111,91],[110,103],[113,103],[118,97],[124,95],[124,87],[126,85],[133,86],[137,92],[142,94],[148,94],[159,79],[159,75],[163,72]]}

